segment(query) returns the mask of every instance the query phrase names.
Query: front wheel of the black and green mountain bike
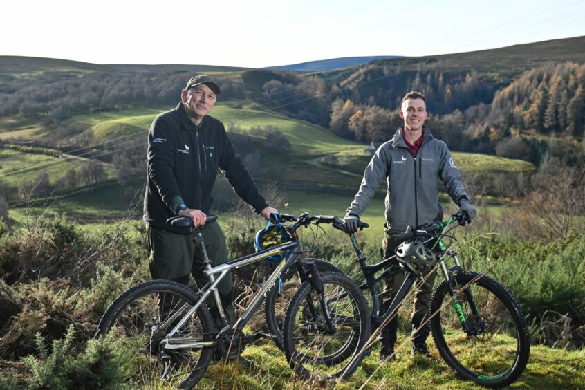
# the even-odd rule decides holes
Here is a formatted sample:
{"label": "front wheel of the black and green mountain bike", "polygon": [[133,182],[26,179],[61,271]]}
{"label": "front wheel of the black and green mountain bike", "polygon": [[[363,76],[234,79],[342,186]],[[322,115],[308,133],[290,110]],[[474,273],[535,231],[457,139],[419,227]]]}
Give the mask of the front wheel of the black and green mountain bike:
{"label": "front wheel of the black and green mountain bike", "polygon": [[[508,290],[476,272],[453,275],[461,307],[447,281],[431,298],[431,330],[440,355],[461,377],[486,387],[517,380],[530,355],[530,337],[522,310]],[[467,329],[463,329],[464,315]]]}

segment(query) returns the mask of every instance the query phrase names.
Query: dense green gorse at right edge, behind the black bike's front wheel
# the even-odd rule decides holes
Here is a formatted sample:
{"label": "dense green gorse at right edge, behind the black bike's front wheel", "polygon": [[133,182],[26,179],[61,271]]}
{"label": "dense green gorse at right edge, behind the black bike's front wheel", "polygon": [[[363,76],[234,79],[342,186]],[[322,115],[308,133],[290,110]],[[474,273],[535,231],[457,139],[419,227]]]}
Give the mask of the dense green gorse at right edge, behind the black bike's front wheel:
{"label": "dense green gorse at right edge, behind the black bike's front wheel", "polygon": [[467,268],[500,281],[532,322],[558,313],[570,318],[572,328],[585,324],[585,242],[576,234],[546,242],[505,232],[467,240],[472,242],[461,245]]}

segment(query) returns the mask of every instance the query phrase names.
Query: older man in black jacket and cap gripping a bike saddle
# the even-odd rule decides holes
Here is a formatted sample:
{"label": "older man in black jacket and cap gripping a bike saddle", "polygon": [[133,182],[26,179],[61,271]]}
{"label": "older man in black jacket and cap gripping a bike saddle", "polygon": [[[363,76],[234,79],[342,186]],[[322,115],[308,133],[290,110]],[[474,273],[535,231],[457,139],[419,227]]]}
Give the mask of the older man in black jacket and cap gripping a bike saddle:
{"label": "older man in black jacket and cap gripping a bike saddle", "polygon": [[[150,272],[153,279],[170,279],[183,284],[193,275],[198,286],[203,275],[203,257],[189,235],[180,234],[165,221],[171,216],[188,216],[203,225],[212,206],[212,189],[221,169],[236,194],[268,219],[278,212],[269,207],[252,176],[225,132],[223,123],[208,115],[220,94],[212,77],[192,77],[180,93],[175,109],[158,115],[148,136],[148,176],[144,219],[148,226]],[[205,225],[205,248],[214,266],[228,261],[225,236],[219,223]],[[236,320],[231,275],[218,286],[230,324]],[[218,322],[219,312],[209,301]]]}

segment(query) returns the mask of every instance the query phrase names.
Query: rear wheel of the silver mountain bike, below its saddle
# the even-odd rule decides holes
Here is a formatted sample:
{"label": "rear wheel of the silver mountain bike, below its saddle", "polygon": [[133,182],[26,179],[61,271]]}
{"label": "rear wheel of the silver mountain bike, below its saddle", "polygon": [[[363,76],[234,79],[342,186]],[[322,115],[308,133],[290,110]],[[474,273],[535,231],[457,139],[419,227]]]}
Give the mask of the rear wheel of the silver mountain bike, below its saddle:
{"label": "rear wheel of the silver mountain bike, below its saddle", "polygon": [[[96,337],[114,331],[127,341],[124,346],[136,349],[136,385],[151,387],[158,380],[178,389],[190,389],[201,380],[212,361],[213,349],[198,351],[189,349],[163,350],[160,340],[171,331],[198,301],[198,295],[184,284],[174,281],[154,280],[137,284],[126,290],[106,310],[97,328]],[[178,313],[176,319],[163,329],[166,319]],[[215,333],[209,308],[201,305],[191,317],[185,329],[176,337],[197,338],[210,341]],[[171,368],[165,372],[160,356],[166,354]],[[165,374],[165,375],[163,375]]]}

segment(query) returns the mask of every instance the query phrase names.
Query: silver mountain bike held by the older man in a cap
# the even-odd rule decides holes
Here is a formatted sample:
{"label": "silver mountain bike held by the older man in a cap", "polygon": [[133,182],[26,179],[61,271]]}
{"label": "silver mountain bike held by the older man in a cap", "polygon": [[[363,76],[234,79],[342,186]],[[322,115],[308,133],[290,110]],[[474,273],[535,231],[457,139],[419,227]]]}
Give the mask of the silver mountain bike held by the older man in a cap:
{"label": "silver mountain bike held by the older man in a cap", "polygon": [[[276,217],[292,222],[285,227],[290,241],[219,266],[212,266],[207,256],[201,233],[205,225],[194,227],[192,220],[185,217],[167,221],[193,234],[194,243],[203,254],[207,284],[195,292],[174,281],[147,281],[126,290],[106,310],[96,336],[114,332],[124,341],[125,348],[136,353],[136,371],[140,375],[137,384],[152,386],[162,380],[174,388],[191,388],[201,380],[213,358],[236,358],[250,342],[274,337],[262,331],[246,335],[243,329],[266,296],[277,288],[282,273],[290,268],[295,268],[304,278],[304,284],[291,301],[301,311],[303,322],[295,322],[297,313],[291,312],[290,324],[284,331],[285,338],[290,340],[287,349],[290,365],[305,377],[316,371],[331,378],[346,378],[358,368],[361,362],[358,352],[370,335],[369,308],[364,294],[345,275],[320,273],[315,263],[305,258],[297,229],[309,225],[315,217],[306,213],[298,217],[286,214]],[[207,223],[216,220],[216,215],[207,215]],[[283,254],[282,260],[236,324],[230,326],[216,288],[219,281],[230,270],[277,254]],[[212,321],[205,304],[207,299],[213,299],[219,309],[219,328]],[[312,341],[307,343],[304,337],[309,333]],[[343,349],[344,356],[337,353],[339,349]],[[348,354],[351,349],[353,353]]]}

